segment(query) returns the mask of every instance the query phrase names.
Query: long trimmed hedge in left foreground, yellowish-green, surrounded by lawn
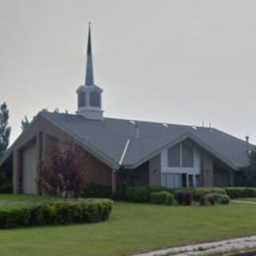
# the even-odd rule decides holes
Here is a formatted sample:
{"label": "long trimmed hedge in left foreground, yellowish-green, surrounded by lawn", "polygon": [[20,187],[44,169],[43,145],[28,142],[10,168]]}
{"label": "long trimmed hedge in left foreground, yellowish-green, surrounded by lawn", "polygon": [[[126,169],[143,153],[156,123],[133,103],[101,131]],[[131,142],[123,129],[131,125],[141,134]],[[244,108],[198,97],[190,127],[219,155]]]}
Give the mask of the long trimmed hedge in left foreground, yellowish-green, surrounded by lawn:
{"label": "long trimmed hedge in left foreground, yellowish-green, surrounded by lawn", "polygon": [[110,217],[110,199],[77,199],[2,205],[0,228],[101,222]]}

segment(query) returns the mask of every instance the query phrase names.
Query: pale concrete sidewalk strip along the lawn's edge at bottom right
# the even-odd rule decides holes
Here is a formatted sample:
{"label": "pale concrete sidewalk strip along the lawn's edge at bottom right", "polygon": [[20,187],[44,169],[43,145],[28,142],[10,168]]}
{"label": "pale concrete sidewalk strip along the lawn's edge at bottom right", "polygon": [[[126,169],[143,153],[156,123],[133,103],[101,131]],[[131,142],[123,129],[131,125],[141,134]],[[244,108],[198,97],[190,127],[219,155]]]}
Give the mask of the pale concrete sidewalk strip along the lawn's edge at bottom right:
{"label": "pale concrete sidewalk strip along the lawn's edge at bottom right", "polygon": [[160,256],[163,254],[168,255],[168,253],[172,256],[191,256],[253,246],[256,246],[256,235],[245,238],[227,239],[219,242],[199,243],[192,246],[179,246],[163,250],[154,250],[144,254],[134,254],[132,256]]}

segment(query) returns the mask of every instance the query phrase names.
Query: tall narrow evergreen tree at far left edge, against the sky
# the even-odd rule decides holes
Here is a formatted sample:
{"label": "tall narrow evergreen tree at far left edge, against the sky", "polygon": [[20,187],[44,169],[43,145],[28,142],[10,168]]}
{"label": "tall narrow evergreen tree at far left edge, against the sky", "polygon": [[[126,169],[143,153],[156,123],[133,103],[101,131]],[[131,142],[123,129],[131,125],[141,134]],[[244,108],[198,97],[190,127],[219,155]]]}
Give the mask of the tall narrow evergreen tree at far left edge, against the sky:
{"label": "tall narrow evergreen tree at far left edge, against the sky", "polygon": [[9,110],[6,102],[3,102],[0,105],[0,158],[2,158],[3,154],[5,154],[9,145],[10,126],[8,126],[8,121]]}

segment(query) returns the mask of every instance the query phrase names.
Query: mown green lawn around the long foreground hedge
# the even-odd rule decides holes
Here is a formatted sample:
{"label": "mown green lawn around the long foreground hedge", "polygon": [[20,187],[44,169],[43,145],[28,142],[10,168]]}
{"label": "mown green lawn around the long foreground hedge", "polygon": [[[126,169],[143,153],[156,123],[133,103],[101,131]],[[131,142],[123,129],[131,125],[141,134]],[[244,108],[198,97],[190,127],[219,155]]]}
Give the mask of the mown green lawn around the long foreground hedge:
{"label": "mown green lawn around the long foreground hedge", "polygon": [[[28,199],[26,196],[22,198]],[[3,195],[1,199],[8,198]],[[16,200],[20,199],[17,196]],[[33,197],[33,200],[38,200],[38,197]],[[154,206],[116,202],[107,222],[0,230],[0,255],[131,254],[159,247],[256,234],[255,216],[256,206],[250,204]]]}

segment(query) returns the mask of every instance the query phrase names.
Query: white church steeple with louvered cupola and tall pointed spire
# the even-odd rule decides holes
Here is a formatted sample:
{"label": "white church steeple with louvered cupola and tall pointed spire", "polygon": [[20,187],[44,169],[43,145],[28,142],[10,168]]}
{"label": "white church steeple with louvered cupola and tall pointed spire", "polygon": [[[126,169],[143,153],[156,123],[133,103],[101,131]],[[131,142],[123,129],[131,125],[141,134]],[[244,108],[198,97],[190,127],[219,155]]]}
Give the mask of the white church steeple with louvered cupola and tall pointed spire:
{"label": "white church steeple with louvered cupola and tall pointed spire", "polygon": [[85,84],[77,90],[78,111],[85,118],[102,120],[102,88],[94,84],[94,66],[91,46],[90,22],[87,42],[86,79]]}

